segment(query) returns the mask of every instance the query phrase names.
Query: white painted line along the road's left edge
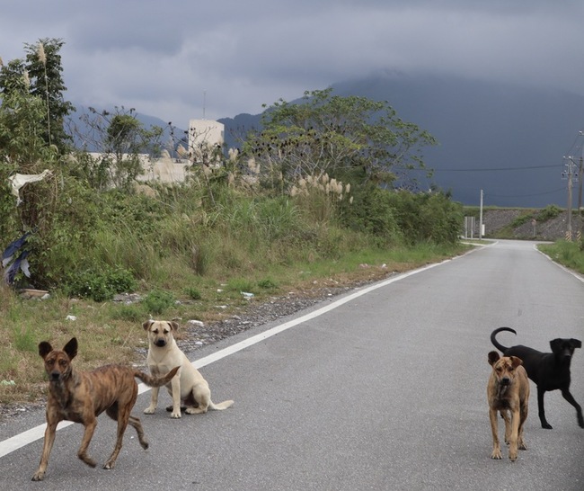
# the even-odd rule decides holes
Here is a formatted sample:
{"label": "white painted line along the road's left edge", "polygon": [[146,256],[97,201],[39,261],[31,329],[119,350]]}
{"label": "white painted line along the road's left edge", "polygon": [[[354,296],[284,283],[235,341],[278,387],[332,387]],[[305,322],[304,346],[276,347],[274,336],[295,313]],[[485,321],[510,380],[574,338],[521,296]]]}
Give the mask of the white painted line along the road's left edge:
{"label": "white painted line along the road's left edge", "polygon": [[[461,257],[461,256],[456,256],[456,257]],[[411,270],[410,272],[403,272],[402,274],[398,274],[397,276],[389,278],[388,280],[380,281],[378,283],[375,283],[374,285],[365,287],[361,290],[358,290],[354,293],[351,293],[350,295],[347,295],[346,297],[343,297],[342,299],[335,300],[323,308],[318,308],[318,309],[314,310],[314,312],[311,312],[310,314],[306,314],[305,316],[298,317],[294,320],[285,322],[284,324],[280,324],[279,326],[274,326],[271,329],[268,329],[267,331],[260,333],[259,335],[253,335],[252,337],[244,339],[243,341],[240,341],[239,343],[233,344],[232,346],[228,346],[225,349],[223,349],[217,353],[209,354],[208,356],[205,356],[204,358],[201,358],[200,360],[196,360],[196,361],[192,362],[192,365],[197,369],[204,367],[206,365],[210,365],[211,363],[217,362],[217,361],[221,360],[222,358],[226,358],[226,356],[240,352],[243,349],[247,348],[248,346],[251,346],[252,344],[260,343],[264,339],[268,339],[269,337],[271,337],[273,335],[277,335],[277,334],[281,333],[282,331],[286,331],[290,327],[294,327],[294,326],[297,326],[298,324],[302,324],[303,322],[310,320],[310,319],[313,319],[314,317],[322,316],[323,314],[332,310],[333,308],[340,307],[341,305],[343,305],[347,302],[350,302],[350,300],[357,299],[358,297],[361,297],[362,295],[365,295],[365,294],[369,293],[370,291],[377,290],[378,288],[383,288],[391,283],[394,283],[395,281],[400,281],[400,280],[403,280],[404,278],[408,278],[409,276],[412,276],[413,274],[418,274],[419,272],[428,271],[429,269],[434,268],[436,266],[439,266],[441,264],[449,263],[450,261],[453,261],[454,259],[456,259],[456,257],[454,257],[452,259],[447,259],[447,260],[442,261],[440,263],[429,264],[428,266],[423,266],[423,267],[418,268],[416,270]],[[150,388],[148,386],[146,386],[146,384],[143,384],[143,383],[138,384],[138,394],[142,394],[148,390],[150,390]],[[73,422],[71,422],[71,421],[62,421],[61,423],[58,424],[57,429],[61,430],[63,428],[66,428],[67,426],[70,426],[71,424],[73,424]],[[45,434],[46,427],[47,427],[46,423],[39,424],[39,426],[35,426],[34,428],[27,430],[26,432],[16,434],[13,437],[7,438],[3,442],[0,442],[0,458],[4,457],[4,455],[8,455],[9,453],[12,453],[13,451],[16,451],[16,450],[28,445],[29,443],[36,442],[37,440],[40,440],[40,438],[42,438]]]}

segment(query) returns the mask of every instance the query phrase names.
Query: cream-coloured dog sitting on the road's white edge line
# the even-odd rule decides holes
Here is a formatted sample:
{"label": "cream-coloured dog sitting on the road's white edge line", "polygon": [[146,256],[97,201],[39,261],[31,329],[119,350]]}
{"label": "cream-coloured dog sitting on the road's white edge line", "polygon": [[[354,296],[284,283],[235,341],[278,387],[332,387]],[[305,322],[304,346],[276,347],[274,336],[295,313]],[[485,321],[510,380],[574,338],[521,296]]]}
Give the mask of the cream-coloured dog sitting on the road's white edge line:
{"label": "cream-coloured dog sitting on the road's white edge line", "polygon": [[[186,406],[189,415],[207,413],[208,409],[222,410],[231,406],[234,401],[226,400],[214,404],[207,380],[203,379],[199,370],[192,366],[187,356],[174,341],[173,333],[179,328],[174,321],[147,320],[142,327],[148,332],[148,357],[146,362],[152,375],[167,373],[171,367],[181,366],[179,374],[166,384],[168,393],[173,397],[173,412],[171,417],[181,417],[181,402]],[[158,388],[152,389],[150,406],[144,410],[146,415],[152,415],[158,404]]]}

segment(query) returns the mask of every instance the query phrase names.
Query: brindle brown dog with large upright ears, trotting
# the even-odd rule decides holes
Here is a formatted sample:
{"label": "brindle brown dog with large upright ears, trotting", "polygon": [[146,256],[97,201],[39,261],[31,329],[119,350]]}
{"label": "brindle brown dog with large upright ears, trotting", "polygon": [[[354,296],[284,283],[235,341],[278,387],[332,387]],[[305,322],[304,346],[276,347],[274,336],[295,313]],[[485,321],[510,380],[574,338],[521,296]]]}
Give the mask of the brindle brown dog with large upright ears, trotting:
{"label": "brindle brown dog with large upright ears, trotting", "polygon": [[121,450],[121,441],[128,423],[136,428],[142,448],[145,450],[148,448],[140,420],[130,415],[137,397],[137,383],[134,377],[151,387],[161,386],[173,378],[179,370],[178,366],[169,370],[168,375],[161,379],[155,379],[139,370],[121,365],[106,365],[89,372],[78,371],[71,365],[71,360],[77,354],[75,337],[65,345],[62,351],[54,350],[49,343],[43,341],[39,344],[39,354],[45,361],[45,370],[49,376],[49,398],[45,442],[39,469],[32,477],[33,481],[40,481],[45,477],[50,451],[55,442],[57,424],[63,420],[84,425],[84,437],[77,451],[77,457],[91,467],[95,467],[95,461],[87,455],[87,447],[97,426],[97,416],[103,411],[118,422],[116,445],[103,469],[113,468]]}

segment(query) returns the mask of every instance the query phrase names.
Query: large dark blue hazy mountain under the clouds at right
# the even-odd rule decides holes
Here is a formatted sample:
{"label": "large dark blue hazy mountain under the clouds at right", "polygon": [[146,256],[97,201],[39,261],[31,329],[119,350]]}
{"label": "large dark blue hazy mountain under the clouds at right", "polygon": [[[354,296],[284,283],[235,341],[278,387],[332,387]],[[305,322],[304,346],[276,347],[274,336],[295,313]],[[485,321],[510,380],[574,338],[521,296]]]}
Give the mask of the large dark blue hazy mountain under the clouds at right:
{"label": "large dark blue hazy mountain under the clouds at right", "polygon": [[[483,190],[484,206],[567,204],[563,156],[573,151],[577,138],[584,138],[578,137],[584,129],[580,95],[455,76],[394,73],[341,82],[332,90],[387,101],[404,121],[437,138],[438,147],[424,151],[425,163],[435,171],[426,184],[451,191],[456,201],[478,205]],[[233,129],[257,127],[259,119],[245,114],[219,121],[226,125],[229,140]]]}

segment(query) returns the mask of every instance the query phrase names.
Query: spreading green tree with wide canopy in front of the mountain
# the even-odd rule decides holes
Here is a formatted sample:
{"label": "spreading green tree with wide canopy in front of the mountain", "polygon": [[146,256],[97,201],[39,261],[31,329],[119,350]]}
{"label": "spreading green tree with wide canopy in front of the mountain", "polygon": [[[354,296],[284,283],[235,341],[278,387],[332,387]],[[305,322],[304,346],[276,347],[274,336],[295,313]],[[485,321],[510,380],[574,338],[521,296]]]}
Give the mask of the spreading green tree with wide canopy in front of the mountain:
{"label": "spreading green tree with wide canopy in front of the mountain", "polygon": [[386,102],[341,97],[332,89],[305,92],[302,103],[274,103],[261,130],[248,134],[243,155],[254,159],[269,186],[288,189],[306,175],[354,184],[394,183],[403,169],[424,168],[421,148],[437,142],[401,120]]}

